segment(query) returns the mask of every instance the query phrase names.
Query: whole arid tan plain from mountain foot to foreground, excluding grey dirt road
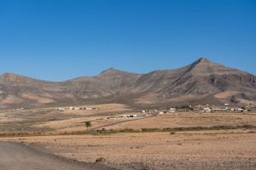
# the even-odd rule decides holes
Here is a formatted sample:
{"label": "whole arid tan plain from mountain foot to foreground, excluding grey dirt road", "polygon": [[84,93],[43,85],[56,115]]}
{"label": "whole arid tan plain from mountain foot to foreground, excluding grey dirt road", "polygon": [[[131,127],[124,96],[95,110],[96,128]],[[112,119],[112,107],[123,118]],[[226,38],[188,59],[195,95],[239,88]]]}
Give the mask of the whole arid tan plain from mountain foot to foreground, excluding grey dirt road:
{"label": "whole arid tan plain from mountain foot to foreground, excluding grey dirt road", "polygon": [[[119,104],[79,107],[98,110],[56,111],[58,107],[1,110],[0,141],[25,144],[49,156],[88,164],[91,169],[256,168],[253,111],[162,110],[166,113],[158,115]],[[137,117],[119,117],[124,115]],[[84,126],[86,121],[92,123],[89,132]],[[214,126],[234,128],[178,128]],[[176,130],[165,132],[165,128]],[[128,130],[122,133],[122,129]]]}

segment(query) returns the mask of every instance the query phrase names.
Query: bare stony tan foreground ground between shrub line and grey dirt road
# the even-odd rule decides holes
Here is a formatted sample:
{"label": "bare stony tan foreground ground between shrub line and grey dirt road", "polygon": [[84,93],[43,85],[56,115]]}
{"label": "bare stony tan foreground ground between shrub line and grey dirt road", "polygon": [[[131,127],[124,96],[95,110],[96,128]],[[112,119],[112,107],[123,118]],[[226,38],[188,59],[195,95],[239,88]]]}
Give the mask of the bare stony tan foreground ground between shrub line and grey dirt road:
{"label": "bare stony tan foreground ground between shrub line and grey dirt road", "polygon": [[72,160],[106,159],[119,169],[255,169],[256,133],[244,130],[200,133],[120,133],[104,136],[2,138],[36,146]]}

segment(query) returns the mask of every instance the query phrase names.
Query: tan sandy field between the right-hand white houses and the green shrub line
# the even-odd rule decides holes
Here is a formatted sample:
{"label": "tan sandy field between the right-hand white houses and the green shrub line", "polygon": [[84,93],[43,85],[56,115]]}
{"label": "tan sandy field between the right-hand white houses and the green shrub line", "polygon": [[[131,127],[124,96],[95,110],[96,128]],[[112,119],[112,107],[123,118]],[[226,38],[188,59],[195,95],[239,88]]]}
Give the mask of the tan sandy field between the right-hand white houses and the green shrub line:
{"label": "tan sandy field between the right-hand white houses and the green shrub line", "polygon": [[120,122],[108,128],[212,127],[243,124],[256,125],[256,114],[177,112],[136,122]]}

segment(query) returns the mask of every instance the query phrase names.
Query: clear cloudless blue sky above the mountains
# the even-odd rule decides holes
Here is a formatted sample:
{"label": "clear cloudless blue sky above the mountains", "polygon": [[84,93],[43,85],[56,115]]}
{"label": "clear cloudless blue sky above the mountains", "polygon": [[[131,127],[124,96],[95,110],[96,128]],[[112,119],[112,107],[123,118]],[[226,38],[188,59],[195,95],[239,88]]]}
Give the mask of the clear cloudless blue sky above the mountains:
{"label": "clear cloudless blue sky above the mountains", "polygon": [[256,75],[255,0],[0,0],[0,74],[58,82],[202,56]]}

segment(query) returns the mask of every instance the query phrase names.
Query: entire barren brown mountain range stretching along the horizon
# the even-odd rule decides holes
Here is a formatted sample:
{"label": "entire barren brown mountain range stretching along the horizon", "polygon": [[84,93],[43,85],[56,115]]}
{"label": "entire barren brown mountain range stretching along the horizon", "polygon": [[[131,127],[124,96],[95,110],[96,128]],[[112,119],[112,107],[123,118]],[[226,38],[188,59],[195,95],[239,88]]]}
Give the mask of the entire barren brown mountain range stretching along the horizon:
{"label": "entire barren brown mountain range stretching along the horizon", "polygon": [[109,69],[96,77],[79,77],[66,82],[45,82],[10,73],[0,76],[2,108],[90,100],[142,105],[256,105],[256,77],[206,58],[177,70],[141,75]]}

